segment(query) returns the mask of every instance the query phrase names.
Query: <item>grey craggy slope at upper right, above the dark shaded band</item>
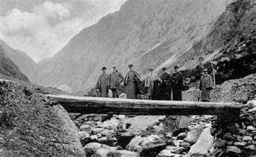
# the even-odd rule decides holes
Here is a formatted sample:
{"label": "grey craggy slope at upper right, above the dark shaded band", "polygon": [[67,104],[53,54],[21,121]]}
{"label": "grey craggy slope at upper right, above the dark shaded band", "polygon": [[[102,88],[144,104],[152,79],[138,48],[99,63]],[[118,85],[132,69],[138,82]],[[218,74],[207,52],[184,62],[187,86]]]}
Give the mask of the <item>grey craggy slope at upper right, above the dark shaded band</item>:
{"label": "grey craggy slope at upper right, above the dark shaded band", "polygon": [[[184,53],[182,58],[198,60],[204,56],[204,63],[219,57],[246,56],[255,53],[256,49],[256,1],[237,1],[227,6],[226,11],[213,25],[210,33]],[[246,50],[248,49],[248,50]],[[245,51],[246,50],[246,51]],[[183,62],[182,62],[183,61]],[[194,67],[198,62],[182,59],[177,62],[183,69]]]}

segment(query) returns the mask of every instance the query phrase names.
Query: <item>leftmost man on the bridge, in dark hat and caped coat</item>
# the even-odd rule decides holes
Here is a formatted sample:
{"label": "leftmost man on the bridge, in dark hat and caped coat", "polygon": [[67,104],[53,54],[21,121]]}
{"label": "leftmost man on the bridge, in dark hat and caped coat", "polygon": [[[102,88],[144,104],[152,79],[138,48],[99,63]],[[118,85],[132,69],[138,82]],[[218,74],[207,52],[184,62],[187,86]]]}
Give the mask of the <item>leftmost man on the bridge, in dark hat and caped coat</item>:
{"label": "leftmost man on the bridge, in dark hat and caped coat", "polygon": [[99,76],[96,89],[100,92],[100,97],[109,97],[109,84],[110,84],[110,77],[106,73],[106,67],[102,67],[102,74]]}

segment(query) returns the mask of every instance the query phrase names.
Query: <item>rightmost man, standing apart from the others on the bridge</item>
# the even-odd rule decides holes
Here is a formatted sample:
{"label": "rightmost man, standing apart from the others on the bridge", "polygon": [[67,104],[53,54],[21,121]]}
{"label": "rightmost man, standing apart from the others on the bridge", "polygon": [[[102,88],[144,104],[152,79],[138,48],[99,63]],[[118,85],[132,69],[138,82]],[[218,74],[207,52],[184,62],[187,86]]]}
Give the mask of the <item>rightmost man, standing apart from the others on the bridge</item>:
{"label": "rightmost man, standing apart from the others on the bridge", "polygon": [[208,74],[208,70],[204,69],[204,74],[199,81],[199,89],[201,90],[201,101],[210,102],[211,90],[214,88],[212,76]]}

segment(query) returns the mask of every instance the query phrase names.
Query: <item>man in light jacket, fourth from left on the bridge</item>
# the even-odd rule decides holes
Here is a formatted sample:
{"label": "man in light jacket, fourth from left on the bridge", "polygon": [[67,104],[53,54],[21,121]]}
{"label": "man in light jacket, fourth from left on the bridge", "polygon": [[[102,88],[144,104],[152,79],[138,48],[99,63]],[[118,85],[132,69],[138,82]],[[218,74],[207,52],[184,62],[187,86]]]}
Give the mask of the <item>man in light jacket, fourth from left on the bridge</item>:
{"label": "man in light jacket, fourth from left on the bridge", "polygon": [[154,81],[157,79],[157,76],[156,76],[156,74],[153,73],[153,71],[154,71],[153,67],[150,67],[149,71],[150,71],[150,73],[147,74],[147,78],[146,78],[144,87],[147,88],[147,96],[149,97],[149,99],[151,99],[152,93],[153,93]]}

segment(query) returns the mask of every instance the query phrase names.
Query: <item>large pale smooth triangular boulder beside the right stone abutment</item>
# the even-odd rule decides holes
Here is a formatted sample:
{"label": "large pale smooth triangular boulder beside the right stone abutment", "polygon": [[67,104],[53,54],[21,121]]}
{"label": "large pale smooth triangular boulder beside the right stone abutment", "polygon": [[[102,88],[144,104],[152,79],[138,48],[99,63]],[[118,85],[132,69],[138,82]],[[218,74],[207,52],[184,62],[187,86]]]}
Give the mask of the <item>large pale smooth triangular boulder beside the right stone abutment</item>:
{"label": "large pale smooth triangular boulder beside the right stone abutment", "polygon": [[213,136],[211,135],[211,127],[207,127],[200,134],[196,144],[190,148],[188,156],[209,156],[208,150],[211,148],[212,144]]}

